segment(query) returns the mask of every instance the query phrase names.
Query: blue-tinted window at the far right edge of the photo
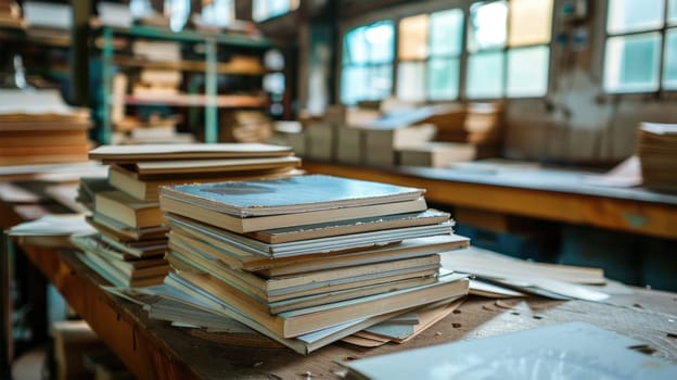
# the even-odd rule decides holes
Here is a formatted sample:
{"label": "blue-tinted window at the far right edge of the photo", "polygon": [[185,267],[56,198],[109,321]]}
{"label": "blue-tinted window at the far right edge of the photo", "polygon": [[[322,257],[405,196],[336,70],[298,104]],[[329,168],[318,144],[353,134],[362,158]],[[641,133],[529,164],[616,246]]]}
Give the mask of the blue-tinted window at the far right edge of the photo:
{"label": "blue-tinted window at the far right edge of the photo", "polygon": [[610,0],[606,35],[608,92],[677,88],[677,0]]}

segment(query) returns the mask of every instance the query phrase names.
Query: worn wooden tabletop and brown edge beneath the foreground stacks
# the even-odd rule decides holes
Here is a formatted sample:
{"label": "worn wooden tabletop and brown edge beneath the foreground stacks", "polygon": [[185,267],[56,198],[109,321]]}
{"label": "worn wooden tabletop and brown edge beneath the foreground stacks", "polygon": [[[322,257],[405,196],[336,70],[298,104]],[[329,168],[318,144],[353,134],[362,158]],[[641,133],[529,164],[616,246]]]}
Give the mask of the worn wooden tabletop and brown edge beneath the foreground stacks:
{"label": "worn wooden tabletop and brown edge beneath the foreground stacks", "polygon": [[[196,338],[188,329],[151,320],[140,306],[104,292],[105,283],[68,251],[23,245],[26,255],[71,306],[140,379],[338,378],[335,362],[476,339],[565,321],[587,321],[648,343],[654,355],[677,363],[677,294],[633,288],[608,303],[540,297],[470,296],[455,314],[412,341],[376,349],[334,343],[304,356],[286,347],[242,346]],[[260,343],[260,341],[259,341]]]}

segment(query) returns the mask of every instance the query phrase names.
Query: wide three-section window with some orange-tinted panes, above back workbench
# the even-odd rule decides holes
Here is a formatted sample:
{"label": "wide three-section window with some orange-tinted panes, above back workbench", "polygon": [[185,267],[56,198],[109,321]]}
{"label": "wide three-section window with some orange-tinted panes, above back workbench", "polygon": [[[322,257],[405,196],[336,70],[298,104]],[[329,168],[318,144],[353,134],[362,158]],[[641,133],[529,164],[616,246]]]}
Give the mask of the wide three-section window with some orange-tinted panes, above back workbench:
{"label": "wide three-section window with some orange-tinted panes, above back workbench", "polygon": [[[475,1],[468,12],[445,9],[353,28],[344,36],[341,100],[542,97],[552,7],[553,0]],[[376,43],[384,49],[379,59],[368,53]]]}

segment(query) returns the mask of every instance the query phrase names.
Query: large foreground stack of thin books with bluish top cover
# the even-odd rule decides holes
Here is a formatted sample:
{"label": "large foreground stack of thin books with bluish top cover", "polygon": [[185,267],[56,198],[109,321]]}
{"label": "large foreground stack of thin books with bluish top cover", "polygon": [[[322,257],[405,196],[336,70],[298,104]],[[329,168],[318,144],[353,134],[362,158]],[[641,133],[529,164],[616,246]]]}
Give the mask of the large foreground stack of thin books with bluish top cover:
{"label": "large foreground stack of thin books with bluish top cover", "polygon": [[165,286],[301,353],[451,303],[468,281],[438,253],[469,240],[423,194],[322,175],[162,187]]}

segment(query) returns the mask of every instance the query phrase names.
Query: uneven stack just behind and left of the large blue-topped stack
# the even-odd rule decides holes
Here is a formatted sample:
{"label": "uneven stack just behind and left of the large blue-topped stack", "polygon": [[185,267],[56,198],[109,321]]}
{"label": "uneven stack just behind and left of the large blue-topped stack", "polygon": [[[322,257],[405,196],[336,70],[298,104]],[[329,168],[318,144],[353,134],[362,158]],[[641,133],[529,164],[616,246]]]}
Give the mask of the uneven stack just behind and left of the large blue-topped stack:
{"label": "uneven stack just behind and left of the large blue-topped stack", "polygon": [[102,145],[90,157],[108,164],[108,177],[82,179],[79,200],[91,207],[93,235],[74,236],[82,261],[118,287],[161,283],[168,228],[158,187],[297,174],[288,147],[268,144]]}

